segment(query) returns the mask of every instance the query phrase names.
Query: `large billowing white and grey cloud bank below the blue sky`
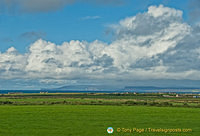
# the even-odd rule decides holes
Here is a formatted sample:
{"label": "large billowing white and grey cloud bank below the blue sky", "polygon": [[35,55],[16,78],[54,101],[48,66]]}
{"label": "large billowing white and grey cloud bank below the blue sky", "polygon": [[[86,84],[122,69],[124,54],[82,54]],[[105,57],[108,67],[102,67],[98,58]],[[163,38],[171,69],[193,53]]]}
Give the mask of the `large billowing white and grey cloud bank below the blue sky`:
{"label": "large billowing white and grey cloud bank below the blue sky", "polygon": [[39,39],[24,54],[11,47],[0,53],[0,79],[200,80],[200,25],[185,23],[182,14],[150,6],[111,25],[110,44]]}

